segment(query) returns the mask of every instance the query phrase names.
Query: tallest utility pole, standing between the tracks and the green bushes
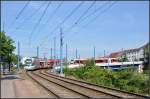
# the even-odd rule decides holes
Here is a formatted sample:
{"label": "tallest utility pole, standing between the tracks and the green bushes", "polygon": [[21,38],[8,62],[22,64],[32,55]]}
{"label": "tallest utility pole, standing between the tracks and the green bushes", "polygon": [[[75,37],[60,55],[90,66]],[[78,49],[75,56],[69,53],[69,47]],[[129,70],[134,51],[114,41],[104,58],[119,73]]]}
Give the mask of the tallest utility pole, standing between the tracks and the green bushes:
{"label": "tallest utility pole, standing between the tracks and the green bushes", "polygon": [[60,75],[63,76],[63,36],[62,28],[60,28]]}

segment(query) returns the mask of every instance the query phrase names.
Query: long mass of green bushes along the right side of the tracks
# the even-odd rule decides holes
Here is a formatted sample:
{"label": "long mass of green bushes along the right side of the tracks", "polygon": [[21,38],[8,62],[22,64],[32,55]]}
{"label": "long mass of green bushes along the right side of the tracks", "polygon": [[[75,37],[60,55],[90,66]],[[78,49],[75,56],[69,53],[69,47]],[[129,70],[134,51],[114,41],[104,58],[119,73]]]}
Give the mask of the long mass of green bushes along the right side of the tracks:
{"label": "long mass of green bushes along the right side of the tracks", "polygon": [[148,76],[131,68],[114,72],[96,67],[92,60],[85,62],[83,67],[64,70],[65,75],[74,76],[87,82],[126,90],[129,92],[147,94]]}

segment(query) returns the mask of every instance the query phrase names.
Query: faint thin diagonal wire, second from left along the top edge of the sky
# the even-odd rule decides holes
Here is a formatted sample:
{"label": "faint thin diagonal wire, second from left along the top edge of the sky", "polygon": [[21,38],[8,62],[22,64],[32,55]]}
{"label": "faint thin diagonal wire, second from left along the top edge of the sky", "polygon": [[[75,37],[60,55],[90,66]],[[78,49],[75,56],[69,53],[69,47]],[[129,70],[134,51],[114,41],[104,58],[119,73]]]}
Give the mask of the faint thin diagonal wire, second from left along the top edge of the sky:
{"label": "faint thin diagonal wire, second from left along the top edge of the sky", "polygon": [[25,24],[25,22],[26,22],[29,18],[32,18],[32,17],[42,8],[42,6],[43,6],[44,4],[45,4],[45,3],[41,4],[41,5],[39,6],[39,8],[37,8],[31,15],[29,15],[28,17],[26,17],[26,18],[23,20],[23,22],[22,22],[18,27],[16,27],[16,29],[20,29],[20,28]]}

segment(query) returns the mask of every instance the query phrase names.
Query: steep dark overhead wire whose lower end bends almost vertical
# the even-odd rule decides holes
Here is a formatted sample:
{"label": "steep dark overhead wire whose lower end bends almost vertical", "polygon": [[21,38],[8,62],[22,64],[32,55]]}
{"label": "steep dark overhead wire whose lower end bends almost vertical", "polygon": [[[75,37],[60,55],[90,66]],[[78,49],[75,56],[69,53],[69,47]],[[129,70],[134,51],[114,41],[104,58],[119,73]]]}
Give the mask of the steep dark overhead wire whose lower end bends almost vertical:
{"label": "steep dark overhead wire whose lower end bends almost vertical", "polygon": [[31,31],[30,36],[29,36],[29,44],[31,43],[31,39],[32,39],[32,35],[33,35],[34,31],[36,30],[36,28],[40,24],[40,22],[41,22],[42,18],[44,17],[44,15],[45,15],[45,13],[47,11],[47,8],[49,7],[50,4],[51,4],[51,1],[47,4],[47,6],[45,7],[45,9],[44,9],[44,11],[43,11],[43,13],[42,13],[42,15],[40,17],[40,19],[38,20],[38,22],[35,24],[33,30]]}

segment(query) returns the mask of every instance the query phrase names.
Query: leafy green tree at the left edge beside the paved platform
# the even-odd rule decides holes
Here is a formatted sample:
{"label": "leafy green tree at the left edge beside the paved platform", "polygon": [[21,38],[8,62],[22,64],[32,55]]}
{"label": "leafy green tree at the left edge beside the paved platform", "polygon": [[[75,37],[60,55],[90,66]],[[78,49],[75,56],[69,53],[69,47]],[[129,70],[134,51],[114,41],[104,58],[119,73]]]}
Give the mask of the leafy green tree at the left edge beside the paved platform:
{"label": "leafy green tree at the left edge beside the paved platform", "polygon": [[0,56],[2,62],[4,61],[2,59],[5,59],[5,62],[9,64],[9,71],[10,71],[11,63],[16,61],[16,56],[13,54],[13,51],[15,49],[13,43],[14,41],[9,36],[6,36],[4,31],[1,31]]}

